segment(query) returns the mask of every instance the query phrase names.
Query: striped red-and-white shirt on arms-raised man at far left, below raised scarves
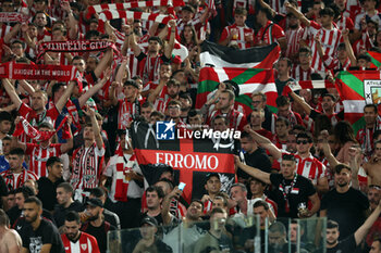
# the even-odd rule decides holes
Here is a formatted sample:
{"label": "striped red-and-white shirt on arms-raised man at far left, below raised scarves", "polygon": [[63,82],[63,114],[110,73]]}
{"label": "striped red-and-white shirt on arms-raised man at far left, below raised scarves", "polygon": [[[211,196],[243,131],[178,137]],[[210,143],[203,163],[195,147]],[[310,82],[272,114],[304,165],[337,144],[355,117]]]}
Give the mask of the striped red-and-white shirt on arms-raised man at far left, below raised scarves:
{"label": "striped red-and-white shirt on arms-raised man at far left, below raised scarves", "polygon": [[42,148],[40,144],[26,143],[25,154],[29,155],[29,169],[34,172],[38,177],[46,177],[47,161],[51,156],[61,155],[62,144],[50,144],[47,148]]}

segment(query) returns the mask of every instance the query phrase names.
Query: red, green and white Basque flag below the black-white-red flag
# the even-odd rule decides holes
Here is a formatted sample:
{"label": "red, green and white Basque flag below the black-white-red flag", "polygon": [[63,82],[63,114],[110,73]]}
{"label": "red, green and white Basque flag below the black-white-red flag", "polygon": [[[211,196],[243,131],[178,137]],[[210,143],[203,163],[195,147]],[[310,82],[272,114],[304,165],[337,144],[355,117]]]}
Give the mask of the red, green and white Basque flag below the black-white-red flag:
{"label": "red, green and white Basque flag below the black-white-red flag", "polygon": [[208,100],[208,94],[217,90],[218,85],[224,80],[233,80],[238,85],[238,94],[235,97],[236,105],[242,105],[245,112],[250,112],[251,93],[261,91],[267,96],[267,104],[276,111],[278,97],[273,69],[237,68],[237,67],[202,67],[199,74],[196,109],[200,109]]}

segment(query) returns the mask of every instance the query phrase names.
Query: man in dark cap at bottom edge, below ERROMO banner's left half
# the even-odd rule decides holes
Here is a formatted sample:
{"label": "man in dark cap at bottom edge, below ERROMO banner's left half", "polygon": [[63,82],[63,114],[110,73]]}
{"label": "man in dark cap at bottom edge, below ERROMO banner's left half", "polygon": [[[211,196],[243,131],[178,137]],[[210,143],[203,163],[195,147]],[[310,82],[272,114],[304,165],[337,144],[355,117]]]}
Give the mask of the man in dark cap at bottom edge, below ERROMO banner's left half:
{"label": "man in dark cap at bottom edge, below ERROMO banner's left half", "polygon": [[158,222],[152,217],[145,217],[140,223],[142,239],[137,242],[133,253],[172,253],[172,249],[156,236],[157,231]]}

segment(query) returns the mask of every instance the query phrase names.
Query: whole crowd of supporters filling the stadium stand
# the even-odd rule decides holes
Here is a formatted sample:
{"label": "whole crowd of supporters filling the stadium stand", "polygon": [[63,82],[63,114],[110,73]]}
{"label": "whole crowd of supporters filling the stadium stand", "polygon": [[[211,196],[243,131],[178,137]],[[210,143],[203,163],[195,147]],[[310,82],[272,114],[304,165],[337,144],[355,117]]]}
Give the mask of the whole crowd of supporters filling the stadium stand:
{"label": "whole crowd of supporters filling the stadium stand", "polygon": [[[285,252],[286,231],[300,232],[276,218],[309,217],[328,217],[328,252],[381,252],[378,104],[356,109],[364,122],[355,132],[335,88],[284,92],[295,81],[334,84],[341,71],[371,68],[367,52],[381,53],[380,1],[149,2],[130,9],[134,17],[105,21],[90,7],[123,1],[1,1],[1,64],[73,65],[78,77],[1,80],[0,252],[105,253],[109,231],[140,226],[139,240],[122,238],[125,252],[253,252],[253,231],[221,223],[179,235],[196,222],[254,214],[261,232],[266,218],[271,225],[269,252]],[[112,47],[41,51],[44,42],[79,40]],[[204,40],[239,50],[279,43],[276,113],[266,89],[253,92],[250,110],[239,106],[231,80],[195,109]],[[221,175],[208,174],[193,186],[205,194],[188,203],[162,165],[149,186],[126,131],[137,121],[239,130],[236,184],[222,191]],[[170,228],[147,229],[158,226]]]}

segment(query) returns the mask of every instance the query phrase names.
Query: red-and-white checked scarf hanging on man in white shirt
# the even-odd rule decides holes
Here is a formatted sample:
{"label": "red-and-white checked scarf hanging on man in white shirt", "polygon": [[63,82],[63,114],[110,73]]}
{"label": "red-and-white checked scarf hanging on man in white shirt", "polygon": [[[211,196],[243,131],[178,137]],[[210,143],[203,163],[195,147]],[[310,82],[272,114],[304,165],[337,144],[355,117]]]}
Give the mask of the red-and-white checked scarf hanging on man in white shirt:
{"label": "red-and-white checked scarf hanging on man in white shirt", "polygon": [[119,154],[116,163],[116,180],[115,180],[115,194],[116,201],[126,202],[130,178],[127,178],[126,172],[133,169],[136,163],[135,154],[131,155],[128,160],[125,159],[124,154]]}

